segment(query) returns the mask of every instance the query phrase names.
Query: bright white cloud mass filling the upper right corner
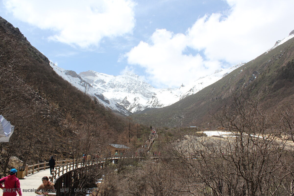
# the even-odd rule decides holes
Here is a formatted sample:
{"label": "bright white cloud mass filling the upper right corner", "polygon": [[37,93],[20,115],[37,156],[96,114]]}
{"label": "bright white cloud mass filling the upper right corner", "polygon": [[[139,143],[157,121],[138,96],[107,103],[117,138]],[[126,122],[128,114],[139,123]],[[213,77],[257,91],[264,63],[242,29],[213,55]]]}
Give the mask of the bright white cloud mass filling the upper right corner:
{"label": "bright white cloud mass filling the upper right corner", "polygon": [[230,63],[250,61],[294,29],[294,1],[227,0],[230,14],[204,16],[188,29],[190,46],[207,58]]}

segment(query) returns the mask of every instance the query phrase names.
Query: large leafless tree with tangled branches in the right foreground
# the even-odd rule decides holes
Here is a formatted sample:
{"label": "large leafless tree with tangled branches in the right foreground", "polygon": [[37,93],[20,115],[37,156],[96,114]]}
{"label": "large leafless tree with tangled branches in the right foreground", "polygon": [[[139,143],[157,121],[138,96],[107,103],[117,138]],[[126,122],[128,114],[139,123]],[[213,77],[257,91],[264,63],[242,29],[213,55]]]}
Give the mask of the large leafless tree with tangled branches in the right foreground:
{"label": "large leafless tree with tangled branches in the right foreground", "polygon": [[[233,105],[213,115],[228,135],[181,136],[171,154],[182,166],[184,191],[194,195],[280,195],[293,173],[290,150],[280,120],[259,106],[259,100],[234,97]],[[186,159],[187,156],[194,159]],[[288,168],[288,172],[285,172]]]}

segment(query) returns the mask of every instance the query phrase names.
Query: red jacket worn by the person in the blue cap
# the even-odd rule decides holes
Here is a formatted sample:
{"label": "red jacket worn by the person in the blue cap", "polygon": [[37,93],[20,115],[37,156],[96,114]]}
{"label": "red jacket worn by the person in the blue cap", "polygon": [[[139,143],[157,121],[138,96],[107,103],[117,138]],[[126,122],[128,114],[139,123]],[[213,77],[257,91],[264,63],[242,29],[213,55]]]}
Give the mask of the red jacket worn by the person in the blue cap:
{"label": "red jacket worn by the person in the blue cap", "polygon": [[3,196],[16,196],[17,193],[22,195],[19,179],[14,175],[9,175],[0,179],[0,183],[4,182]]}

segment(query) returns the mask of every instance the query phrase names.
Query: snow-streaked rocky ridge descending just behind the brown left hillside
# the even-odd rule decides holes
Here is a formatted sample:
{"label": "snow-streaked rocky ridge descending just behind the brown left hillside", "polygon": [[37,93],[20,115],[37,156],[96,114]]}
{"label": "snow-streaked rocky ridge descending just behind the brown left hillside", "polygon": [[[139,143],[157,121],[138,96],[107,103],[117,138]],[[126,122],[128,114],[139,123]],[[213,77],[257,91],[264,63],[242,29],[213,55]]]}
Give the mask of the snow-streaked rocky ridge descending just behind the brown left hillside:
{"label": "snow-streaked rocky ridge descending just behind the brown left hillside", "polygon": [[64,80],[68,81],[79,89],[82,92],[92,96],[95,98],[99,103],[101,103],[105,108],[111,109],[114,112],[118,112],[124,115],[130,115],[131,112],[126,110],[126,108],[122,107],[118,103],[116,103],[112,99],[106,98],[102,93],[97,91],[95,88],[91,86],[88,82],[84,81],[81,76],[79,76],[75,71],[65,70],[63,68],[58,67],[56,64],[50,62],[50,66],[53,70],[61,76]]}

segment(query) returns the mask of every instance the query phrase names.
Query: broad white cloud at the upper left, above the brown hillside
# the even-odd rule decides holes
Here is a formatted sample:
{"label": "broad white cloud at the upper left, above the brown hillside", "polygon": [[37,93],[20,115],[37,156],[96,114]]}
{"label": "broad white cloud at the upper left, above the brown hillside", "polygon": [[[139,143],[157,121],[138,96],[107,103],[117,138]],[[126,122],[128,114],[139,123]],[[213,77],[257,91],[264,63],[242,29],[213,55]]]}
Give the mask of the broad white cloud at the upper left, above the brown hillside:
{"label": "broad white cloud at the upper left, above the brown hillside", "polygon": [[103,37],[132,33],[132,0],[4,0],[16,19],[56,32],[51,40],[88,48]]}

